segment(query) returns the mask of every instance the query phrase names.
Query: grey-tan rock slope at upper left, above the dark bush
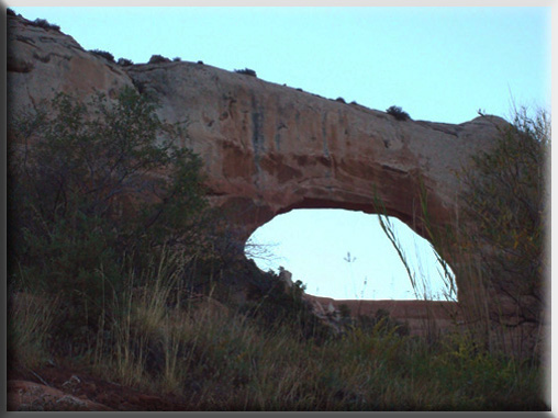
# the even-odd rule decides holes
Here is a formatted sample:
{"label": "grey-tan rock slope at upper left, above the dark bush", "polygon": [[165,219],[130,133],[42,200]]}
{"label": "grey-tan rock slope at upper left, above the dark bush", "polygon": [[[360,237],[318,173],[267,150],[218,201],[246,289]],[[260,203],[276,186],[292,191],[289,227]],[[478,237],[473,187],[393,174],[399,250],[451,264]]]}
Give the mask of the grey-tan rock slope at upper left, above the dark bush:
{"label": "grey-tan rock slope at upper left, above the dark bush", "polygon": [[71,36],[8,15],[8,122],[56,93],[86,99],[96,90],[113,97],[132,80],[105,58],[85,50]]}

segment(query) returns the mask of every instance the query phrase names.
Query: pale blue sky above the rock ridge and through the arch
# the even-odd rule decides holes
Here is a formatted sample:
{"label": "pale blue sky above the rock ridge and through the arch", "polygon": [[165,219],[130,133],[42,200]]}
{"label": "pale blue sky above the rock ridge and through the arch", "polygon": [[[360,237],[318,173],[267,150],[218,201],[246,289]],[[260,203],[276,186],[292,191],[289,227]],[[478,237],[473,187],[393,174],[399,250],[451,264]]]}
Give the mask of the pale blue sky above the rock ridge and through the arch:
{"label": "pale blue sky above the rock ridge and through the arch", "polygon": [[[505,117],[512,100],[550,110],[550,8],[11,4],[24,18],[58,24],[83,48],[110,52],[115,59],[140,64],[158,54],[231,71],[250,68],[263,80],[328,99],[381,111],[399,105],[414,120],[462,123],[479,109]],[[418,237],[415,242],[406,226],[399,230],[410,259],[416,249],[422,273],[432,278],[431,293],[442,292],[428,244]],[[258,229],[261,242],[278,244],[270,248],[275,264],[261,268],[283,266],[311,294],[413,298],[382,234],[372,215],[294,211]],[[347,252],[355,261],[344,260]]]}

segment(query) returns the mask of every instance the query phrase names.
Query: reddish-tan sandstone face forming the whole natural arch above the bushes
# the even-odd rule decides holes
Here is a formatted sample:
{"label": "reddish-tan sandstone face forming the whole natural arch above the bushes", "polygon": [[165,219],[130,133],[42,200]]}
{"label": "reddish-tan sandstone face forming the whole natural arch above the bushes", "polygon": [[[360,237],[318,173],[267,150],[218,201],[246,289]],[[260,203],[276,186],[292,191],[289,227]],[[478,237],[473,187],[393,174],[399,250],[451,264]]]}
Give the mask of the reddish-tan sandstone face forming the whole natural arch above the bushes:
{"label": "reddish-tan sandstone face forming the whole natural arch above the bushes", "polygon": [[210,202],[224,210],[241,242],[277,214],[305,207],[377,213],[375,197],[424,236],[420,185],[434,226],[451,222],[455,170],[488,149],[505,123],[398,121],[202,64],[120,67],[21,16],[8,16],[8,35],[9,131],[13,115],[56,92],[113,97],[133,86],[158,101],[159,116],[185,122],[180,145],[203,159]]}

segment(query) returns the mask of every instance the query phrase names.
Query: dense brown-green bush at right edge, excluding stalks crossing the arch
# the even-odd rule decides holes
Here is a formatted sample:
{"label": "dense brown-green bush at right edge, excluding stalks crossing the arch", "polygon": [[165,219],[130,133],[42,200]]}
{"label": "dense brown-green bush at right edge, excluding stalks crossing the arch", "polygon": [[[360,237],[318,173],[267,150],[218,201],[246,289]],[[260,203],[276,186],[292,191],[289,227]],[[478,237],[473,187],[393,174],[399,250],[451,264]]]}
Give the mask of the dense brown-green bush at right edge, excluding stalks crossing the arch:
{"label": "dense brown-green bush at right edge, excluding stalks crossing the arch", "polygon": [[[484,284],[513,301],[517,323],[540,324],[545,297],[545,234],[549,227],[550,120],[525,109],[500,128],[493,149],[472,157],[460,173],[464,216],[475,231],[462,230],[461,249],[480,253]],[[468,224],[468,225],[470,225]],[[465,225],[464,225],[465,226]]]}

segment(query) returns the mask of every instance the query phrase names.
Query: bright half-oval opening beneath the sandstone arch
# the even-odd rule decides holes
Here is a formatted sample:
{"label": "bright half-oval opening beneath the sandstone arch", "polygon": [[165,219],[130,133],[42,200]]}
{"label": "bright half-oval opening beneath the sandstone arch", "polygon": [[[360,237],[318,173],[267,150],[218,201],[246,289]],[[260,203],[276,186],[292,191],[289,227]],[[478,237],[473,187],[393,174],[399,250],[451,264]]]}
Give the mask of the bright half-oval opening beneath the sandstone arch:
{"label": "bright half-oval opening beneath the sandstone arch", "polygon": [[431,242],[395,217],[384,222],[405,262],[378,215],[341,208],[298,208],[277,215],[252,234],[245,255],[264,271],[288,270],[292,281],[300,280],[313,296],[457,301],[455,275]]}

